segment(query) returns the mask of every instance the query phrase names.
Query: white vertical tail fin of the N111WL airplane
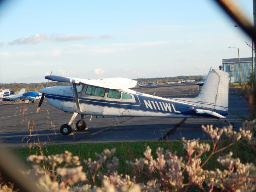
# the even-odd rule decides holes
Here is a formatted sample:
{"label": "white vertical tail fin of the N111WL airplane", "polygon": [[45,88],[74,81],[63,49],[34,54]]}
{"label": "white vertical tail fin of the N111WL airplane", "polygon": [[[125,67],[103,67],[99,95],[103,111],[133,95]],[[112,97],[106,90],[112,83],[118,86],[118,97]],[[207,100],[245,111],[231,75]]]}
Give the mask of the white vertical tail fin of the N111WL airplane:
{"label": "white vertical tail fin of the N111WL airplane", "polygon": [[210,110],[228,111],[228,80],[228,73],[211,68],[199,95],[195,98],[179,100],[207,107]]}

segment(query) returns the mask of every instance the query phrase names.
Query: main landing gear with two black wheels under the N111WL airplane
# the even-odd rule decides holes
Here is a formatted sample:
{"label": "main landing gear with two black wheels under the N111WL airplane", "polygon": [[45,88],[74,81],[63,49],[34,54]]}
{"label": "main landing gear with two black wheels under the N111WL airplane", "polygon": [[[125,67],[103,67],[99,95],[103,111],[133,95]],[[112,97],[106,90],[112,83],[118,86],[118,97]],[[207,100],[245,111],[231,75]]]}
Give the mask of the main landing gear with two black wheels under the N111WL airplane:
{"label": "main landing gear with two black wheels under the N111WL airplane", "polygon": [[[71,123],[73,122],[73,120],[76,118],[76,116],[77,116],[77,112],[75,112],[74,114],[73,114],[73,116],[72,116],[72,118],[70,119],[70,121],[68,122],[68,124],[64,124],[64,125],[62,125],[61,127],[60,127],[60,133],[62,134],[62,135],[68,135],[68,134],[70,134],[70,133],[72,133],[72,128],[71,128]],[[81,119],[80,120],[78,120],[77,122],[76,122],[76,128],[78,129],[78,130],[87,130],[88,128],[86,128],[86,122],[83,120],[83,118],[84,118],[84,115],[82,115],[81,114]]]}

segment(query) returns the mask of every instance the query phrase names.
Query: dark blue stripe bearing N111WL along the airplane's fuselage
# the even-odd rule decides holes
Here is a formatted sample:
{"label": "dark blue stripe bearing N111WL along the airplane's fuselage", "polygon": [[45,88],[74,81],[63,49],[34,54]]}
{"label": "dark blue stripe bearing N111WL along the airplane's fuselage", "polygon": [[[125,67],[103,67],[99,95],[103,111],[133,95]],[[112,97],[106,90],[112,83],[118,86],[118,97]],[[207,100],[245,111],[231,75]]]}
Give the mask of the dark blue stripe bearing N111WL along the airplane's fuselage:
{"label": "dark blue stripe bearing N111WL along the airplane's fuselage", "polygon": [[[108,100],[100,100],[100,99],[89,99],[89,98],[79,98],[79,102],[81,104],[89,104],[89,105],[111,107],[111,108],[122,108],[122,109],[129,109],[129,110],[140,110],[140,111],[146,111],[146,112],[212,117],[211,115],[197,114],[194,111],[194,109],[209,110],[209,108],[193,106],[190,104],[182,104],[179,102],[162,100],[162,99],[152,98],[152,97],[143,96],[143,95],[136,95],[136,94],[133,94],[133,95],[136,100],[136,102],[134,103],[121,102],[121,101],[108,101]],[[46,98],[50,98],[54,100],[74,102],[74,98],[70,96],[54,95],[54,94],[48,94],[48,93],[45,93],[45,96]],[[220,110],[216,110],[216,112],[223,116],[226,116],[228,114],[228,112],[220,111]]]}

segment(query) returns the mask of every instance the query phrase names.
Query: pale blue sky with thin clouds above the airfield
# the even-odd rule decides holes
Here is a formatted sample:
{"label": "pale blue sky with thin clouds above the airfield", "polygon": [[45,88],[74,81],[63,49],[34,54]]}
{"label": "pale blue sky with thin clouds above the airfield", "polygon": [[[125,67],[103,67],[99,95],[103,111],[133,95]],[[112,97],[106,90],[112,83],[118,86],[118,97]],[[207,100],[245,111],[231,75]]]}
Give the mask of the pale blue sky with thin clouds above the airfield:
{"label": "pale blue sky with thin clouds above the airfield", "polygon": [[[250,20],[252,0],[239,0]],[[207,74],[251,57],[213,0],[9,0],[0,4],[0,83]]]}

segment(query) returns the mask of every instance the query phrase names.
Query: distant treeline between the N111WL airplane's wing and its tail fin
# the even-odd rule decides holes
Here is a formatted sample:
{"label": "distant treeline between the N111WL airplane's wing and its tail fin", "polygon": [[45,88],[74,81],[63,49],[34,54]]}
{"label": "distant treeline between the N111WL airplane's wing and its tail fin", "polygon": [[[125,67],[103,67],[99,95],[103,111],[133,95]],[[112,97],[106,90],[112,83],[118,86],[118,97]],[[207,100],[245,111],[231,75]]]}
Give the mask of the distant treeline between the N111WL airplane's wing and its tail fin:
{"label": "distant treeline between the N111WL airplane's wing and its tail fin", "polygon": [[185,81],[185,80],[195,80],[195,81],[202,81],[202,76],[176,76],[176,77],[156,77],[156,78],[138,78],[134,79],[138,81],[140,84],[148,84],[150,82],[158,82],[158,83],[166,83],[166,82],[178,82],[178,81]]}

